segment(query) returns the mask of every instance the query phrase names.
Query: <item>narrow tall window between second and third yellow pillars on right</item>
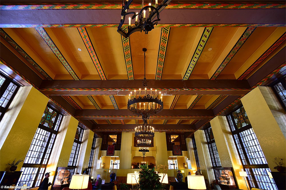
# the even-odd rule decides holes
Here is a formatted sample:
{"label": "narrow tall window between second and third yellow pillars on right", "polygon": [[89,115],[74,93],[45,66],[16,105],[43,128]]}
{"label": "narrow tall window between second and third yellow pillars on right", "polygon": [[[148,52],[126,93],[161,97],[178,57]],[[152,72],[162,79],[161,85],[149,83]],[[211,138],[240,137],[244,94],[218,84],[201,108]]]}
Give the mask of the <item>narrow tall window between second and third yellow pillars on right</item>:
{"label": "narrow tall window between second and third yellow pillars on right", "polygon": [[208,143],[208,150],[210,152],[210,160],[212,161],[212,167],[214,169],[215,173],[215,179],[219,179],[219,176],[217,174],[217,170],[215,170],[216,167],[221,167],[221,160],[219,159],[219,152],[217,152],[217,145],[215,144],[215,138],[212,133],[212,127],[209,126],[204,130],[204,133],[206,134],[206,142]]}

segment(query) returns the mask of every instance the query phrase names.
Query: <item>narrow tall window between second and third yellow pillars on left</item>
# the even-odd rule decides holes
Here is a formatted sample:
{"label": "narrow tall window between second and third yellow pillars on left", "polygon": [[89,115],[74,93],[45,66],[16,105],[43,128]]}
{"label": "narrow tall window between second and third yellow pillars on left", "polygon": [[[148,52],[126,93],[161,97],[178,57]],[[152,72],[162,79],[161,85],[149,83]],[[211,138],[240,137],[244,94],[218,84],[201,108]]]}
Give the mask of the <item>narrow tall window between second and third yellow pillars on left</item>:
{"label": "narrow tall window between second and third yellow pillars on left", "polygon": [[[82,143],[82,135],[84,134],[84,129],[78,128],[76,129],[76,136],[74,137],[74,144],[72,146],[72,152],[69,156],[68,166],[76,168],[76,163],[78,161],[78,153],[80,152],[80,144]],[[74,174],[74,169],[69,169],[71,176]]]}

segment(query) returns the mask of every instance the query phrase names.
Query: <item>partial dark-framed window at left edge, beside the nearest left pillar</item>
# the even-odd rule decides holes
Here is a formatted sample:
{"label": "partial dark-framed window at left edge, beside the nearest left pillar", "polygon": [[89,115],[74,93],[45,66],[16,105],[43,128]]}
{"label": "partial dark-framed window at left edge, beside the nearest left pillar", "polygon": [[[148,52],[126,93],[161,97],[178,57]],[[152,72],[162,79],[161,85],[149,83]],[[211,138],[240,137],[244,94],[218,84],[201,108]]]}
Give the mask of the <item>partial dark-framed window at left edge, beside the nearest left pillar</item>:
{"label": "partial dark-framed window at left edge, beside the nearest left pillar", "polygon": [[12,102],[19,85],[0,72],[0,120]]}

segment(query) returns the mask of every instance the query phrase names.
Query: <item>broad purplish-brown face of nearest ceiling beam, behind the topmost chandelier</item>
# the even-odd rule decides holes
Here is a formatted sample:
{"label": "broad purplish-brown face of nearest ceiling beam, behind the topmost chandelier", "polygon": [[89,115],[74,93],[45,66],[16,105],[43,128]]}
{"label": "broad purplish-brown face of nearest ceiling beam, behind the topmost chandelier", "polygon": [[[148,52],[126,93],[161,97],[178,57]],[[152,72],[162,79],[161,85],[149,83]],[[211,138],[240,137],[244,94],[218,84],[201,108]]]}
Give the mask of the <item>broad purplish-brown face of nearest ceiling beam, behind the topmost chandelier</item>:
{"label": "broad purplish-brown face of nearest ceiling beam, behind the topmost chandelier", "polygon": [[[136,9],[130,11],[136,12]],[[171,25],[166,26],[166,24],[177,23],[208,24],[209,27],[225,26],[225,24],[285,26],[285,14],[286,9],[165,9],[160,13],[159,23],[165,24],[161,27],[170,27]],[[1,10],[0,27],[92,27],[97,24],[102,24],[104,27],[110,27],[111,24],[112,27],[117,27],[119,15],[120,10],[116,9]],[[125,24],[127,26],[128,19]]]}

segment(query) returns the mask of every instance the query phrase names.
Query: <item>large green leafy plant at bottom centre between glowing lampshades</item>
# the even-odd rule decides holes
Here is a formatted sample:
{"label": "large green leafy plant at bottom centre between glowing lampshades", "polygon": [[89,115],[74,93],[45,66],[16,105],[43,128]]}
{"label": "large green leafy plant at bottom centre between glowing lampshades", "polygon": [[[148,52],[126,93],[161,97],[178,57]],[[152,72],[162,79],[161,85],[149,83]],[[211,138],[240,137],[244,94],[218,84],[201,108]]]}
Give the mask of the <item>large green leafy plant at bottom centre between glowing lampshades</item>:
{"label": "large green leafy plant at bottom centre between glowing lampshades", "polygon": [[139,188],[140,189],[163,189],[162,183],[157,173],[148,168],[147,164],[140,165],[141,171],[139,171]]}

